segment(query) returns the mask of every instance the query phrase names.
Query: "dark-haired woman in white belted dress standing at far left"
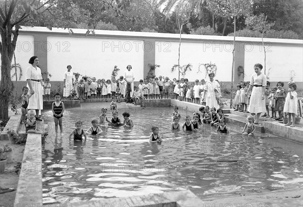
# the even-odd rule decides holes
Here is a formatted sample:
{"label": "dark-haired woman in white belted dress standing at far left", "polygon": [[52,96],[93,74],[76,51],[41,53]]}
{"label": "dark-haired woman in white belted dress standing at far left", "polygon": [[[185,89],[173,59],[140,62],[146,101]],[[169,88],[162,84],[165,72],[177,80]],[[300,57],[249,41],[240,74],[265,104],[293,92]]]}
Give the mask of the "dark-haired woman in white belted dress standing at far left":
{"label": "dark-haired woman in white belted dress standing at far left", "polygon": [[43,109],[42,75],[40,68],[37,66],[39,59],[37,56],[33,56],[29,59],[28,63],[31,64],[31,66],[26,68],[25,78],[32,96],[28,100],[27,108],[35,110],[36,120],[42,121],[38,116],[39,110]]}

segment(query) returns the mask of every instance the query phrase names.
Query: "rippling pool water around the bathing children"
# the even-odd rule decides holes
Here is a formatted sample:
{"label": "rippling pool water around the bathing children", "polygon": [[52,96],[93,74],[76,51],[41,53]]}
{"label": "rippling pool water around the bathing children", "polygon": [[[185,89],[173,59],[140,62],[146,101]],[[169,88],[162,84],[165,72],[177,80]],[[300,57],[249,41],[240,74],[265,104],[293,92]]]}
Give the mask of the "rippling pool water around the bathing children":
{"label": "rippling pool water around the bathing children", "polygon": [[[101,136],[74,142],[68,135],[75,121],[86,131],[92,118],[109,103],[85,103],[64,112],[64,136],[55,136],[52,111],[42,113],[51,131],[42,152],[43,202],[77,202],[191,190],[198,197],[237,191],[264,192],[301,186],[301,145],[288,147],[276,137],[218,134],[201,125],[197,133],[171,132],[173,108],[118,105],[134,128],[103,128]],[[185,115],[192,112],[179,110]],[[112,118],[111,111],[107,113]],[[161,144],[149,143],[150,127],[158,126]],[[271,140],[271,141],[269,141]],[[292,144],[292,143],[291,143]],[[290,144],[290,145],[291,145]],[[283,148],[282,148],[283,146]],[[253,190],[252,190],[253,189]]]}

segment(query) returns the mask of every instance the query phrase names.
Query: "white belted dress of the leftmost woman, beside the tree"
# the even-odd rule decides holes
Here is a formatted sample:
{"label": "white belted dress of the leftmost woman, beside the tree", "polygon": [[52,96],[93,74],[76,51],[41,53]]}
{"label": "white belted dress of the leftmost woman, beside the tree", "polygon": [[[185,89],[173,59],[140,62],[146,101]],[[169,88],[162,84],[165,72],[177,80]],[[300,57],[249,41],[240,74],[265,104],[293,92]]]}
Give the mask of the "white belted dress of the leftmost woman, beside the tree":
{"label": "white belted dress of the leftmost woman, beside the tree", "polygon": [[[35,91],[35,93],[29,98],[28,100],[28,109],[43,109],[43,96],[42,96],[42,85],[40,80],[42,79],[41,70],[39,67],[35,69],[33,66],[29,66],[26,68],[25,72],[25,78],[31,79],[30,83],[32,86],[32,89]],[[33,81],[33,80],[39,80],[39,81]],[[27,84],[28,89],[30,87]],[[29,91],[30,93],[30,91]]]}

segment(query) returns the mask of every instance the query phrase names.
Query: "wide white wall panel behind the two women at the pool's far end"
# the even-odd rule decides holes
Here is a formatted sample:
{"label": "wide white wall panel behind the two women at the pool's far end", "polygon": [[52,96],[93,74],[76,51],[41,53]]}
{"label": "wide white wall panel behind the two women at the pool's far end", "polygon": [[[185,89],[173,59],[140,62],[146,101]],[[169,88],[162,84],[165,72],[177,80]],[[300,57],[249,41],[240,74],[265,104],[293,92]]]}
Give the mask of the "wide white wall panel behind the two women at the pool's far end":
{"label": "wide white wall panel behind the two women at the pool's far end", "polygon": [[68,65],[72,72],[96,79],[111,79],[115,65],[118,76],[123,75],[131,65],[135,81],[143,78],[143,41],[48,36],[47,42],[52,47],[47,48],[47,71],[53,81],[63,81]]}

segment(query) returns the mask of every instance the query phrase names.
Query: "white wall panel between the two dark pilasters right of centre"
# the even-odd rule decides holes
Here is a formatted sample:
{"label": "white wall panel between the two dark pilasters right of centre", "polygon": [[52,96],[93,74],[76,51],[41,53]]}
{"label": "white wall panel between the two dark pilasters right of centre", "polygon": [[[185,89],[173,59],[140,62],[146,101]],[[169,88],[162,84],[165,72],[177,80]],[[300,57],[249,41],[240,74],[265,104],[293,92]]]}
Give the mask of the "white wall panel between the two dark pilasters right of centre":
{"label": "white wall panel between the two dark pilasters right of centre", "polygon": [[[173,65],[178,64],[178,47],[179,42],[160,42],[156,41],[156,64],[160,68],[156,69],[156,76],[168,76],[171,80],[178,79],[178,71],[171,72]],[[210,45],[209,42],[181,42],[180,48],[180,65],[191,63],[192,71],[187,71],[185,77],[189,81],[195,79],[201,80],[206,76],[206,69],[200,66],[202,73],[197,73],[200,64],[215,63],[217,65],[217,73],[215,79],[219,81],[230,81],[231,65],[232,65],[232,46],[230,43],[218,42],[217,47]],[[182,78],[183,76],[180,76]]]}

